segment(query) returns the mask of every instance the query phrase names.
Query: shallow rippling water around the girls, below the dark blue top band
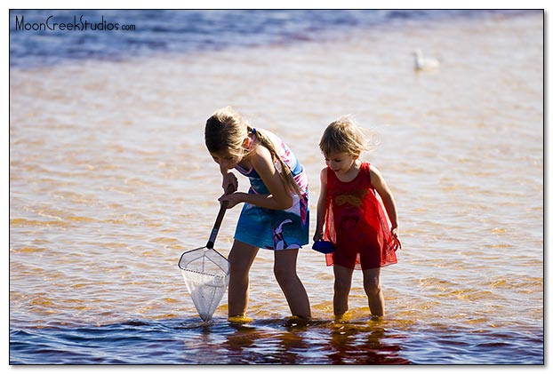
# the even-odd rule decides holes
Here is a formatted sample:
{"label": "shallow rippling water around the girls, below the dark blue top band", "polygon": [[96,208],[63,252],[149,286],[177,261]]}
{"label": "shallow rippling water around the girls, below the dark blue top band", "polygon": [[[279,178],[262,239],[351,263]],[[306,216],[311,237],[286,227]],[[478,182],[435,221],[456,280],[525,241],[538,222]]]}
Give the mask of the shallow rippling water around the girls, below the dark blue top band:
{"label": "shallow rippling water around the girls, below the dark blue top band", "polygon": [[[415,73],[415,47],[441,68]],[[12,67],[10,362],[542,364],[543,77],[541,12]],[[268,251],[251,321],[228,322],[223,298],[200,323],[177,262],[219,208],[203,126],[226,105],[301,159],[312,229],[326,124],[351,113],[378,135],[364,158],[395,194],[404,244],[382,271],[383,321],[357,273],[333,321],[332,268],[308,246],[309,325],[288,318]]]}

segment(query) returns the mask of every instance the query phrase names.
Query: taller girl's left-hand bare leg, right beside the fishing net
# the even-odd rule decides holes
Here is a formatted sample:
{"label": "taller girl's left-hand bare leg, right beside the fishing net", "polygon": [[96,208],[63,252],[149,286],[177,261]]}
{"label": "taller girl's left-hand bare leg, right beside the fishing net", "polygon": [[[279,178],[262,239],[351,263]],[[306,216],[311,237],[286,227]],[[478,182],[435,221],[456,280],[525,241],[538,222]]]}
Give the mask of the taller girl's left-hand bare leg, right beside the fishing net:
{"label": "taller girl's left-hand bare leg, right beside the fishing net", "polygon": [[245,316],[250,288],[250,268],[259,248],[235,241],[228,254],[228,316]]}

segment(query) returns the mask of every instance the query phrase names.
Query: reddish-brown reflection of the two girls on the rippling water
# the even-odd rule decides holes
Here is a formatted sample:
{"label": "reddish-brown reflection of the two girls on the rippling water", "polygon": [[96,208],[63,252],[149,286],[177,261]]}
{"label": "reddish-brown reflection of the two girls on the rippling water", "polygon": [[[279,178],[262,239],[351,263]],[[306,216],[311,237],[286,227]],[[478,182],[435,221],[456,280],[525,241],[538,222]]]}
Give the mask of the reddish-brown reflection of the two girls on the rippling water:
{"label": "reddish-brown reflection of the two girls on the rippling water", "polygon": [[230,323],[231,363],[409,364],[383,322],[259,320]]}

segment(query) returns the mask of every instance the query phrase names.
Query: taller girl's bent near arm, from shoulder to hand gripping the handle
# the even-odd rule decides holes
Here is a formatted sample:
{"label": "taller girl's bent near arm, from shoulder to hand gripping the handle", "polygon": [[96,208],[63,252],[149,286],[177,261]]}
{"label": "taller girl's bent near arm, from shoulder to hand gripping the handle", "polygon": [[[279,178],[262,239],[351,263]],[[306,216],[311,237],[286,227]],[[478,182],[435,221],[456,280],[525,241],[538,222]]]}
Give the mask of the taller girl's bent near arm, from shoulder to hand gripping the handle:
{"label": "taller girl's bent near arm, from shoulder to hand gripping the handle", "polygon": [[288,209],[293,204],[292,193],[285,187],[285,182],[276,171],[273,159],[266,147],[255,147],[250,154],[250,162],[253,169],[257,171],[260,178],[267,186],[268,195],[248,194],[244,192],[235,192],[230,195],[223,195],[220,201],[227,200],[228,208],[232,208],[237,203],[251,203],[261,208],[274,209],[282,211]]}

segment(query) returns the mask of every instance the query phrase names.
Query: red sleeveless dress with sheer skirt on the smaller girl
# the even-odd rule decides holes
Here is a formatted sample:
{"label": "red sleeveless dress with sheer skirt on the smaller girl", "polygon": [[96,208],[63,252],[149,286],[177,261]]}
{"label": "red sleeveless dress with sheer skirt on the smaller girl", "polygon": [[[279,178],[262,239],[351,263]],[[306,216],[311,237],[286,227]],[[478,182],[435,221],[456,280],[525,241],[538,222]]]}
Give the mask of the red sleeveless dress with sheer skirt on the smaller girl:
{"label": "red sleeveless dress with sheer skirt on the smaller girl", "polygon": [[327,169],[325,240],[336,251],[326,265],[371,269],[396,264],[389,220],[371,184],[370,163],[362,163],[357,177],[341,182]]}

